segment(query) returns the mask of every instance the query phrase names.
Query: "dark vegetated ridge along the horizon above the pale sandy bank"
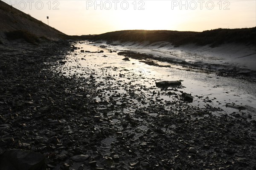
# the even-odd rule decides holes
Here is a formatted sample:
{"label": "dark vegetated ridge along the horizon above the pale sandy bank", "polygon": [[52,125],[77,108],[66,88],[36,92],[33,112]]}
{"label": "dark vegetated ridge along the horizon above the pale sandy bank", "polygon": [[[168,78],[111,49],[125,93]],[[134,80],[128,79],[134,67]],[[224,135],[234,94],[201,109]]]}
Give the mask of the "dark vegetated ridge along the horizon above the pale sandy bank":
{"label": "dark vegetated ridge along the horizon above the pale sandy bank", "polygon": [[87,40],[108,40],[120,42],[145,42],[154,43],[167,41],[175,46],[189,43],[197,45],[211,45],[212,47],[224,43],[244,43],[256,45],[256,27],[244,29],[214,29],[204,32],[179,32],[166,30],[126,30],[108,32],[101,35],[83,35]]}

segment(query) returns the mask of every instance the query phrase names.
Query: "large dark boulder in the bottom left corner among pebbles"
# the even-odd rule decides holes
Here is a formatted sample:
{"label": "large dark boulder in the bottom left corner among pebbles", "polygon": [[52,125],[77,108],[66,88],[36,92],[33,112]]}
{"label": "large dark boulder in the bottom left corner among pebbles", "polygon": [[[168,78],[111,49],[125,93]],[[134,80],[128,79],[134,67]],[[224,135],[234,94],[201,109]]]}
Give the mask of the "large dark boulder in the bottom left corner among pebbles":
{"label": "large dark boulder in the bottom left corner among pebbles", "polygon": [[46,170],[45,157],[27,150],[8,150],[0,156],[0,170]]}

